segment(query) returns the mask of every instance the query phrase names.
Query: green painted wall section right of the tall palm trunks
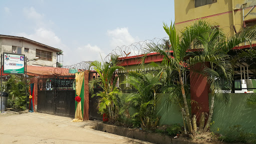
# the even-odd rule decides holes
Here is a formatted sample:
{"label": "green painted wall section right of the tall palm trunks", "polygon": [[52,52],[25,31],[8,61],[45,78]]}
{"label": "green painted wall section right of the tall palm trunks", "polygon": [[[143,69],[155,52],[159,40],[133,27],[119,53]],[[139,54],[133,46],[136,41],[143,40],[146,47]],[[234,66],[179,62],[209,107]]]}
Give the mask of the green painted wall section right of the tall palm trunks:
{"label": "green painted wall section right of the tall palm trunks", "polygon": [[[209,100],[210,97],[209,94]],[[215,101],[211,120],[214,124],[210,126],[210,130],[223,133],[229,126],[240,124],[244,132],[256,133],[256,106],[246,103],[248,97],[249,93],[232,93],[229,105]],[[219,131],[216,131],[217,127],[220,128]]]}

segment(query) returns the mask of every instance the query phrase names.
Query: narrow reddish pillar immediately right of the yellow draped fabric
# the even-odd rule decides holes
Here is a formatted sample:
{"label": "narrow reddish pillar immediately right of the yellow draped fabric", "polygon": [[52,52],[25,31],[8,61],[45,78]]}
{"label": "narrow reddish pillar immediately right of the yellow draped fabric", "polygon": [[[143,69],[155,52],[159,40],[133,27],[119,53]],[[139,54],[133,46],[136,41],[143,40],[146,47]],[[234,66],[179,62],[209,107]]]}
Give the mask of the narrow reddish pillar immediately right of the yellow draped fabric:
{"label": "narrow reddish pillar immediately right of the yellow draped fabric", "polygon": [[83,120],[89,120],[89,70],[84,71]]}

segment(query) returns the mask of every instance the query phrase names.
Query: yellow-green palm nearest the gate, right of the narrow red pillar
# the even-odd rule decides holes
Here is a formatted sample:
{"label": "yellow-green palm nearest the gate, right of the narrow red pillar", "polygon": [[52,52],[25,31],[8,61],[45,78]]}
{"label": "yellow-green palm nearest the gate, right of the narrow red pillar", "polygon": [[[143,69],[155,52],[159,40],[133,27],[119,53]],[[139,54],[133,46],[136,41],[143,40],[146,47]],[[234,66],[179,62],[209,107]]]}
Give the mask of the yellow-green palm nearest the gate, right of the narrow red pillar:
{"label": "yellow-green palm nearest the gate, right of the narrow red pillar", "polygon": [[118,114],[118,93],[119,90],[115,86],[117,76],[114,71],[123,66],[116,65],[116,56],[111,56],[110,62],[101,62],[95,60],[90,63],[94,70],[98,73],[98,77],[89,82],[90,91],[93,92],[93,85],[97,83],[103,90],[94,95],[100,96],[99,99],[99,112],[107,113],[110,121],[115,121]]}

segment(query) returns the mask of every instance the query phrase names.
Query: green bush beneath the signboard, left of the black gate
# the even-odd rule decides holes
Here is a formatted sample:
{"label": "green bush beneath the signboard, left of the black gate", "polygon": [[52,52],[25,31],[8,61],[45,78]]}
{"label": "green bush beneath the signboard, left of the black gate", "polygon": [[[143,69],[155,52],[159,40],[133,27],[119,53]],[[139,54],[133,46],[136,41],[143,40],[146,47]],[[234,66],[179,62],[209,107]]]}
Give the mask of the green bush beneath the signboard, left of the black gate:
{"label": "green bush beneath the signboard, left of the black gate", "polygon": [[[18,110],[26,109],[26,95],[25,91],[28,89],[28,84],[25,85],[25,79],[21,76],[11,74],[10,78],[3,82],[3,90],[7,92],[7,107],[11,107]],[[28,100],[27,100],[28,101]]]}

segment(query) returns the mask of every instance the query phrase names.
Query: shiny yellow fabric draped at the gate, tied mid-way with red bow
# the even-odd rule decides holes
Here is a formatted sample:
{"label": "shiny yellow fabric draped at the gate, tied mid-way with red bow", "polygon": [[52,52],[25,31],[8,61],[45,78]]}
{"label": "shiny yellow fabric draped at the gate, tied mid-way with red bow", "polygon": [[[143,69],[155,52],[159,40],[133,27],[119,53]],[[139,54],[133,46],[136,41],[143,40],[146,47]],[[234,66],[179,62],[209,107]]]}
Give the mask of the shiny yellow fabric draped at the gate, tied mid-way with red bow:
{"label": "shiny yellow fabric draped at the gate, tied mid-way with red bow", "polygon": [[[80,96],[80,93],[81,93],[83,77],[84,77],[83,71],[79,72],[79,73],[75,73],[75,91],[76,91],[76,95],[78,95],[78,96]],[[81,107],[81,101],[79,101],[79,102],[77,102],[73,122],[82,121],[82,120],[83,120],[82,107]]]}

